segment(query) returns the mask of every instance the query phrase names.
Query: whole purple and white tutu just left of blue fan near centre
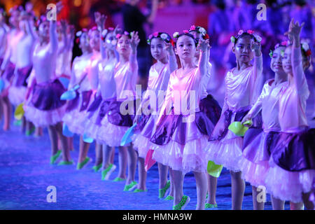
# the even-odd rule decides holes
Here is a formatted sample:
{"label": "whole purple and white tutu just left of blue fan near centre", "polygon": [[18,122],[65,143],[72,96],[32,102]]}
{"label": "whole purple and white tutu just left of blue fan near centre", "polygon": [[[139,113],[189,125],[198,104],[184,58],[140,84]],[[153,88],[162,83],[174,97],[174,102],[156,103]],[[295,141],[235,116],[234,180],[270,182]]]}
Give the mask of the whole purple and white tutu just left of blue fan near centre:
{"label": "whole purple and white tutu just left of blue fan near centre", "polygon": [[[113,100],[113,102],[109,104],[109,109],[104,119],[101,121],[101,125],[104,128],[99,130],[99,136],[102,136],[104,144],[111,147],[120,146],[121,139],[123,139],[125,132],[133,125],[134,116],[137,111],[136,102],[137,99],[130,102]],[[128,104],[133,105],[132,108],[129,108]],[[121,113],[120,107],[122,107],[124,114]]]}

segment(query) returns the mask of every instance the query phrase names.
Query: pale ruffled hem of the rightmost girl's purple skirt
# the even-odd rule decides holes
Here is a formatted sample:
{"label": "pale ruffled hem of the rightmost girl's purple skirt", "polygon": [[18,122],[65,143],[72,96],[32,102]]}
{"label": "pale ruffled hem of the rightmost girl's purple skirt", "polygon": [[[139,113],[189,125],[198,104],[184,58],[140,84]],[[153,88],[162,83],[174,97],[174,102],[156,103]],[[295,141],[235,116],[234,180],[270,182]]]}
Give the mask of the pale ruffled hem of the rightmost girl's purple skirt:
{"label": "pale ruffled hem of the rightmost girl's purple skirt", "polygon": [[279,200],[302,202],[302,193],[309,193],[312,189],[315,170],[288,172],[278,167],[272,158],[269,160],[269,165],[265,180],[267,192]]}

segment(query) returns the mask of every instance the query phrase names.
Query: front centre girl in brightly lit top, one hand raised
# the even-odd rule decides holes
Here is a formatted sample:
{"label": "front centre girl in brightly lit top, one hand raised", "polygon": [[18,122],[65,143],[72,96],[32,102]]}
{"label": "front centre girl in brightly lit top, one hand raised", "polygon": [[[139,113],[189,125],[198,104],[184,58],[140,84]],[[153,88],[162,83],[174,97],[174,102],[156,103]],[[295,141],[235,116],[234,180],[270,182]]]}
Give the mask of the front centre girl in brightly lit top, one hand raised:
{"label": "front centre girl in brightly lit top, one hand raised", "polygon": [[175,33],[174,37],[177,38],[175,52],[181,59],[182,67],[171,73],[169,78],[165,102],[151,138],[155,144],[153,159],[172,168],[173,209],[184,209],[190,201],[190,197],[183,195],[183,177],[190,171],[195,174],[197,184],[197,209],[204,209],[207,193],[207,178],[204,174],[208,162],[205,150],[207,127],[214,127],[214,124],[202,109],[200,85],[202,77],[207,76],[209,40],[200,40],[202,56],[197,66],[195,37],[188,31]]}

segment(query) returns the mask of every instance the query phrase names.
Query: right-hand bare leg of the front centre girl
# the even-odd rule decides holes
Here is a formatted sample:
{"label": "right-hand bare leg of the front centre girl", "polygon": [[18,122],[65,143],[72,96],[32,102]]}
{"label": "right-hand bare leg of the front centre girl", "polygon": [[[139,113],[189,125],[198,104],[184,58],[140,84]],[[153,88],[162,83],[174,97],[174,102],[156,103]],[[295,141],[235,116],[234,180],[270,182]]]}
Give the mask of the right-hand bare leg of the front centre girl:
{"label": "right-hand bare leg of the front centre girl", "polygon": [[204,210],[204,202],[206,202],[207,194],[207,177],[203,172],[194,172],[197,188],[197,208],[196,210]]}

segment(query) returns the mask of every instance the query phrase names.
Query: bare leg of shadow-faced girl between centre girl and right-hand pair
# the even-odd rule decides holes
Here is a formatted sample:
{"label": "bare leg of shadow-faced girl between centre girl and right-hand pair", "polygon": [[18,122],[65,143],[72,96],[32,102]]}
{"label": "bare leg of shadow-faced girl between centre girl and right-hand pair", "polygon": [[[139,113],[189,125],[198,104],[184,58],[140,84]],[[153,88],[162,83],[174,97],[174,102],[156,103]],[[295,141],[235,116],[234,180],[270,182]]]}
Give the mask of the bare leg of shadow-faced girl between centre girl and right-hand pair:
{"label": "bare leg of shadow-faced girl between centre girl and right-hand pair", "polygon": [[232,210],[241,210],[241,204],[243,203],[245,181],[241,179],[241,172],[232,172]]}

